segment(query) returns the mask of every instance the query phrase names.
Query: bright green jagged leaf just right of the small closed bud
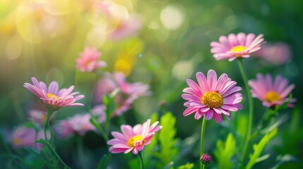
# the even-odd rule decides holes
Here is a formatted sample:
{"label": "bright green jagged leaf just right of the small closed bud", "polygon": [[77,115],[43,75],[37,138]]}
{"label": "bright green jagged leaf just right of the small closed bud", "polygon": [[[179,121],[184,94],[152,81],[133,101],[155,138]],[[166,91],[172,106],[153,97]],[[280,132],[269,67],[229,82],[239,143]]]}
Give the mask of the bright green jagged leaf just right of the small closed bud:
{"label": "bright green jagged leaf just right of the small closed bud", "polygon": [[219,168],[233,168],[231,158],[235,154],[236,140],[232,136],[232,133],[227,135],[225,142],[218,140],[217,148],[214,151],[215,158],[218,161]]}

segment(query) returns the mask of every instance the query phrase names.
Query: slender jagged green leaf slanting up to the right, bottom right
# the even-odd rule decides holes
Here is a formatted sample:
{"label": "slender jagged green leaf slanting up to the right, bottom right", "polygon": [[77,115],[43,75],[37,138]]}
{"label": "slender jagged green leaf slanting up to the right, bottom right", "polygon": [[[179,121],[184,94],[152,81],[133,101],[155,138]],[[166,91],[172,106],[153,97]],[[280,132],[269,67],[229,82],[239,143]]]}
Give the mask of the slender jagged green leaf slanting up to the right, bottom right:
{"label": "slender jagged green leaf slanting up to the right, bottom right", "polygon": [[256,163],[258,163],[258,158],[261,155],[264,147],[266,144],[277,134],[278,129],[269,132],[268,134],[264,135],[261,141],[258,144],[254,144],[254,153],[250,154],[249,156],[249,163],[246,165],[246,169],[252,168]]}

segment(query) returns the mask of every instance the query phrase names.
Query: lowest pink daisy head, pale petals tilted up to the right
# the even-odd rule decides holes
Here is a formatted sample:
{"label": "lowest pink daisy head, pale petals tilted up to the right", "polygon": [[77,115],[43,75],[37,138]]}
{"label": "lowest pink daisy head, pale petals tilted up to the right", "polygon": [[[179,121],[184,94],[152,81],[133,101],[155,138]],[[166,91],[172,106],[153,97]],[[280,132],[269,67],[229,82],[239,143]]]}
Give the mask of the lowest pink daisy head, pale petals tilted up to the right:
{"label": "lowest pink daisy head, pale petals tilted up to the right", "polygon": [[143,150],[145,145],[150,144],[150,139],[158,132],[162,126],[158,125],[158,121],[150,125],[148,119],[143,125],[138,124],[133,127],[130,125],[121,125],[120,132],[112,132],[114,139],[110,139],[107,144],[111,145],[109,151],[112,154],[124,152],[124,154],[133,151],[133,154],[138,154],[138,151]]}

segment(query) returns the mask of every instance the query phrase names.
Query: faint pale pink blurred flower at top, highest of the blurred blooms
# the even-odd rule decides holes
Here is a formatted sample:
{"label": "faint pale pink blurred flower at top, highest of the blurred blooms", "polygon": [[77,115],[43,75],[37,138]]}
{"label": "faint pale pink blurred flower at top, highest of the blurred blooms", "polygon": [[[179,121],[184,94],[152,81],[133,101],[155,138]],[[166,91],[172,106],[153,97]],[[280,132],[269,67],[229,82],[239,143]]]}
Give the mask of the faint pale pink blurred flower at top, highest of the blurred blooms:
{"label": "faint pale pink blurred flower at top, highest of the blurred blooms", "polygon": [[141,20],[136,15],[131,15],[127,20],[119,20],[119,24],[111,33],[113,40],[120,40],[126,37],[133,37],[141,28]]}

